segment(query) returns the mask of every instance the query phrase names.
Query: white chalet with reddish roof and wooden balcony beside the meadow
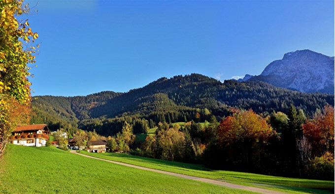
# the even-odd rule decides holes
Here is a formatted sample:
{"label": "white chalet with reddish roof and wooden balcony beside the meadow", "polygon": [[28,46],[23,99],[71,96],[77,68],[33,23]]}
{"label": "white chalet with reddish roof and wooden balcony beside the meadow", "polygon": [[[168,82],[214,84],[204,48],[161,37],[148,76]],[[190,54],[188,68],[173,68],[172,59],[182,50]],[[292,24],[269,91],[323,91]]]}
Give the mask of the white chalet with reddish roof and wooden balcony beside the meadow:
{"label": "white chalet with reddish roof and wooden balcony beside the meadow", "polygon": [[25,146],[45,146],[49,139],[46,124],[18,126],[9,137],[9,143]]}

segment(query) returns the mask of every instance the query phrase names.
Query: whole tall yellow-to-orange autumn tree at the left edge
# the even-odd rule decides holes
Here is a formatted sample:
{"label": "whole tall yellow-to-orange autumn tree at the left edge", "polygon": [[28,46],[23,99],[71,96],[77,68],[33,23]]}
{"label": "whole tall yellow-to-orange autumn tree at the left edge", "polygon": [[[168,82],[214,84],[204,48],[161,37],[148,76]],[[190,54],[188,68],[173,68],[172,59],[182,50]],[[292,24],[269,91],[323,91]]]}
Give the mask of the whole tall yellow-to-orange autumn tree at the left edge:
{"label": "whole tall yellow-to-orange autumn tree at the left edge", "polygon": [[35,63],[33,42],[38,34],[29,28],[28,20],[17,20],[27,12],[29,6],[23,0],[0,1],[0,156],[11,131],[29,121],[28,64]]}

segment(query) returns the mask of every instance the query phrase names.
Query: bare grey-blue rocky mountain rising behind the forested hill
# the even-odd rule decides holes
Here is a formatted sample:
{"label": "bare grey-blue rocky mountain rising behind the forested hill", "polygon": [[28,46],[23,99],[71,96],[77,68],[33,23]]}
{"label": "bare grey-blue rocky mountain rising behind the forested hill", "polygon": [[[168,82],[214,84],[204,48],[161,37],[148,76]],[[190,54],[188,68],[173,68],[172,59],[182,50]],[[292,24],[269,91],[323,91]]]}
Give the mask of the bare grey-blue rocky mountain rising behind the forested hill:
{"label": "bare grey-blue rocky mountain rising behind the forested hill", "polygon": [[268,64],[261,75],[249,81],[262,81],[301,92],[334,94],[334,56],[310,50],[290,52]]}

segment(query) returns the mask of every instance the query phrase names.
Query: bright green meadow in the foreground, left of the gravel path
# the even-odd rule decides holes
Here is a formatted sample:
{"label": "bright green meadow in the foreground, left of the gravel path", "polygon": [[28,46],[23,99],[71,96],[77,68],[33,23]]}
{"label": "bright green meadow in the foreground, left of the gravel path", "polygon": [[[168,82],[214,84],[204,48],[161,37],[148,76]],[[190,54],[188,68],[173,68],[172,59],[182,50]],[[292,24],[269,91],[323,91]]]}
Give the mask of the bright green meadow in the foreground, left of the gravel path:
{"label": "bright green meadow in the foreground, left of the gravel path", "polygon": [[[154,187],[153,187],[154,186]],[[0,161],[0,193],[248,193],[85,158],[55,147],[9,144]]]}

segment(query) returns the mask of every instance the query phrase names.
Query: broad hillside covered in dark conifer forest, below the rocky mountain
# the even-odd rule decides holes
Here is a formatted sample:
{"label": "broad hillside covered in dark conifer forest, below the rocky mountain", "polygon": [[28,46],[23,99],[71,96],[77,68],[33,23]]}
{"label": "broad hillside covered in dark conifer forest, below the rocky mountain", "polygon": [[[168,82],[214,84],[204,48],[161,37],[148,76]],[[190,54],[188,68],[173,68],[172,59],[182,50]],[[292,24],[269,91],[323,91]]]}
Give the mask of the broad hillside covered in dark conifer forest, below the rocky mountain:
{"label": "broad hillside covered in dark conifer forest, below the rocky mountain", "polygon": [[[221,83],[200,74],[161,78],[126,93],[104,91],[88,96],[37,96],[32,107],[32,123],[47,123],[52,130],[78,127],[98,129],[102,135],[118,132],[113,124],[145,118],[158,122],[220,119],[232,109],[252,109],[269,115],[272,111],[288,112],[290,104],[312,115],[327,104],[334,106],[333,94],[302,93],[262,82],[225,81]],[[200,117],[197,117],[197,112]],[[206,113],[207,112],[207,113]],[[127,118],[130,116],[130,118]],[[152,121],[151,121],[152,120]],[[108,127],[101,127],[105,124]],[[149,124],[150,124],[149,123]],[[100,126],[100,127],[99,127]],[[116,127],[116,128],[120,128]]]}

